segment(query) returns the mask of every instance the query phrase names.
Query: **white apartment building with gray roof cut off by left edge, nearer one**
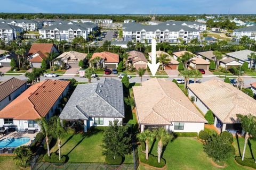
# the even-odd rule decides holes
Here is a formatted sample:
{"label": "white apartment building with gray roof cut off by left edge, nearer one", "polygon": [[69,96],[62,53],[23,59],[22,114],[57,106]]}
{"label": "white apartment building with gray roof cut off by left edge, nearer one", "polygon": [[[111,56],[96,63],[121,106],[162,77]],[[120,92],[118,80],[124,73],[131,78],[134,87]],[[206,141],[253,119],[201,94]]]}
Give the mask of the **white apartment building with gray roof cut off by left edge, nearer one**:
{"label": "white apartment building with gray roof cut off by left edge, nearer one", "polygon": [[3,41],[12,41],[20,37],[22,28],[10,25],[7,23],[0,23],[0,39]]}

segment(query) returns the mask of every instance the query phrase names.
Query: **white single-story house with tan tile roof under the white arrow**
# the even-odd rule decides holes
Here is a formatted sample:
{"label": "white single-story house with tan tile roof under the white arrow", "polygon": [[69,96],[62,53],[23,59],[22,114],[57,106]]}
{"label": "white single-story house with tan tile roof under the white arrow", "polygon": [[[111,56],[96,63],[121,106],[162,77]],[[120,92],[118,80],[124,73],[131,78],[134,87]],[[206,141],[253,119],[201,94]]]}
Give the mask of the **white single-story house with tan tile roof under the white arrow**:
{"label": "white single-story house with tan tile roof under the white arrow", "polygon": [[174,132],[204,130],[205,118],[172,81],[154,78],[132,88],[141,132],[158,127]]}

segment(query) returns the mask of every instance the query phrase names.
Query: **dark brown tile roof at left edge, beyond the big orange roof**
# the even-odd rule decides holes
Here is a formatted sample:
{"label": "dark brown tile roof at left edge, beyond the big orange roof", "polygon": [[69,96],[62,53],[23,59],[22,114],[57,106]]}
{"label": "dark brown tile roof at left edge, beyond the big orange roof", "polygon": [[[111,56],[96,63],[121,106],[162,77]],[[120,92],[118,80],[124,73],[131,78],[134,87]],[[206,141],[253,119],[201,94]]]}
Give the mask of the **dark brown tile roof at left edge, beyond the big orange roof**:
{"label": "dark brown tile roof at left edge, beyond the big orange roof", "polygon": [[17,78],[11,78],[7,81],[0,83],[0,101],[11,95],[14,91],[19,89],[27,81]]}

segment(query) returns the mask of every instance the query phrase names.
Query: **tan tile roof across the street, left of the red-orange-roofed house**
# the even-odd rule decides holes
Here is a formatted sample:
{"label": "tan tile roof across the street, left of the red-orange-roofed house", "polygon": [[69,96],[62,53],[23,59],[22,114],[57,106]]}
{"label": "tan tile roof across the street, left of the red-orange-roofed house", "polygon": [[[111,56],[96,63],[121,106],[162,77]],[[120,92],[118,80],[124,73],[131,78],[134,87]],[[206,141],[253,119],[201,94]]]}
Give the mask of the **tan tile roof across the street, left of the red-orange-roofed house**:
{"label": "tan tile roof across the street, left of the red-orange-roofed house", "polygon": [[87,54],[85,53],[70,51],[70,52],[62,53],[60,56],[55,58],[55,60],[58,60],[61,58],[62,60],[63,59],[68,60],[68,62],[79,62],[80,60],[84,60],[86,56]]}

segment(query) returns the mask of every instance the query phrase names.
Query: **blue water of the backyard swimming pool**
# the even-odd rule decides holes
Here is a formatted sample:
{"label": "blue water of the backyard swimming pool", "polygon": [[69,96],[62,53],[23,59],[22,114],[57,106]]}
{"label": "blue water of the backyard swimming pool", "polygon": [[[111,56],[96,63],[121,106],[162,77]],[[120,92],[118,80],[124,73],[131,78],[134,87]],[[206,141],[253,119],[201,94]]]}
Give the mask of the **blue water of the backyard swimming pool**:
{"label": "blue water of the backyard swimming pool", "polygon": [[5,138],[0,140],[0,148],[5,147],[18,147],[27,143],[30,140],[29,137],[21,137],[21,138]]}

